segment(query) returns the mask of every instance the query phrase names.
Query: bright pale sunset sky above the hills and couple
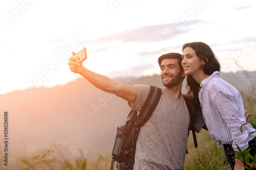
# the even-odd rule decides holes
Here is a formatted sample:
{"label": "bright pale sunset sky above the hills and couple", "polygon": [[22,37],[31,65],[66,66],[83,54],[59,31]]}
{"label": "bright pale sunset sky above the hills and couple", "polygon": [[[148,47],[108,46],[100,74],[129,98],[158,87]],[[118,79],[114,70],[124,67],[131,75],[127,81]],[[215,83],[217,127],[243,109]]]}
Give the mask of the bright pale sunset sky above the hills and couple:
{"label": "bright pale sunset sky above the hills and couple", "polygon": [[[157,59],[182,53],[186,42],[208,44],[222,72],[256,67],[256,1],[41,1],[0,3],[0,94],[65,85],[72,52],[110,78],[159,74]],[[31,90],[32,91],[32,90]]]}

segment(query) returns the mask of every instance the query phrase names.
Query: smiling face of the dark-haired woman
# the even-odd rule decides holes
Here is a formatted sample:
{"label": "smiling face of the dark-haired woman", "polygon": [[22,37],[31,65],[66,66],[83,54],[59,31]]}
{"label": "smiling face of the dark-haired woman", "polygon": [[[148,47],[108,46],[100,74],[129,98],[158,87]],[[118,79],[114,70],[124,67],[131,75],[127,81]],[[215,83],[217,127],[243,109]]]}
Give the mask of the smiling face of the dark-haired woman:
{"label": "smiling face of the dark-haired woman", "polygon": [[184,68],[185,75],[195,75],[202,71],[202,65],[205,64],[197,55],[193,48],[187,46],[182,53],[182,67]]}

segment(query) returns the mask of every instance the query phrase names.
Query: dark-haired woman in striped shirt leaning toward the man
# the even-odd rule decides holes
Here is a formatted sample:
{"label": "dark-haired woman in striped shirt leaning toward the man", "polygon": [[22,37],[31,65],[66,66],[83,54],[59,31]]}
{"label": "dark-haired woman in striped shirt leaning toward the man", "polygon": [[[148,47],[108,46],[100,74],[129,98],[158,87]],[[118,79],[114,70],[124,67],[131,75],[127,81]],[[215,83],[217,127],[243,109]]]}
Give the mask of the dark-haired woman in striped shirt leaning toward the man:
{"label": "dark-haired woman in striped shirt leaning toward the man", "polygon": [[[182,47],[182,66],[187,75],[188,93],[201,108],[210,137],[224,146],[225,155],[232,169],[244,169],[243,162],[232,158],[232,148],[244,150],[250,145],[255,155],[256,133],[246,122],[244,106],[239,91],[219,78],[220,64],[211,48],[203,42],[186,43]],[[200,103],[199,103],[200,102]]]}

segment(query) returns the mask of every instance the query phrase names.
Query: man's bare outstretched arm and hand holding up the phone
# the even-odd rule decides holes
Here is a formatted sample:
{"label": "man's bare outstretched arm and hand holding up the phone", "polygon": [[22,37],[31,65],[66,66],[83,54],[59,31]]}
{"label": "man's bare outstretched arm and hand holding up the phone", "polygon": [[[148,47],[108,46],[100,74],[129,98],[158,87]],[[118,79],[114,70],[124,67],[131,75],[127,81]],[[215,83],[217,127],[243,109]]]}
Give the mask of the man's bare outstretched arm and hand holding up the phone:
{"label": "man's bare outstretched arm and hand holding up the phone", "polygon": [[[73,55],[75,55],[75,53],[73,53]],[[115,82],[106,76],[99,75],[87,69],[82,65],[82,63],[78,63],[76,61],[78,61],[76,57],[71,57],[69,59],[68,64],[72,72],[81,75],[82,77],[87,79],[92,85],[103,91],[115,94],[128,102],[136,101],[137,94],[136,88],[134,86]]]}

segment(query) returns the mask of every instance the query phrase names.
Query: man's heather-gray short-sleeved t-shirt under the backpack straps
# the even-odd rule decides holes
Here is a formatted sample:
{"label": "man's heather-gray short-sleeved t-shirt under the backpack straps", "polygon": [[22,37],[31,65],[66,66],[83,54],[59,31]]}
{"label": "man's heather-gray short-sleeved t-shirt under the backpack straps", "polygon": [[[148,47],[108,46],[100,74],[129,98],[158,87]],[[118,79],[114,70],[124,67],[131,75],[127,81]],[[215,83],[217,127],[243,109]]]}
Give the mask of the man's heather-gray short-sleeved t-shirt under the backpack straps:
{"label": "man's heather-gray short-sleeved t-shirt under the backpack straps", "polygon": [[[129,107],[140,111],[150,91],[148,85],[135,85],[137,99]],[[183,96],[170,96],[161,87],[160,101],[152,116],[141,127],[136,145],[134,170],[184,169],[189,112]],[[200,118],[201,117],[201,118]],[[200,120],[199,120],[200,119]],[[196,131],[204,125],[203,117],[197,116]]]}

